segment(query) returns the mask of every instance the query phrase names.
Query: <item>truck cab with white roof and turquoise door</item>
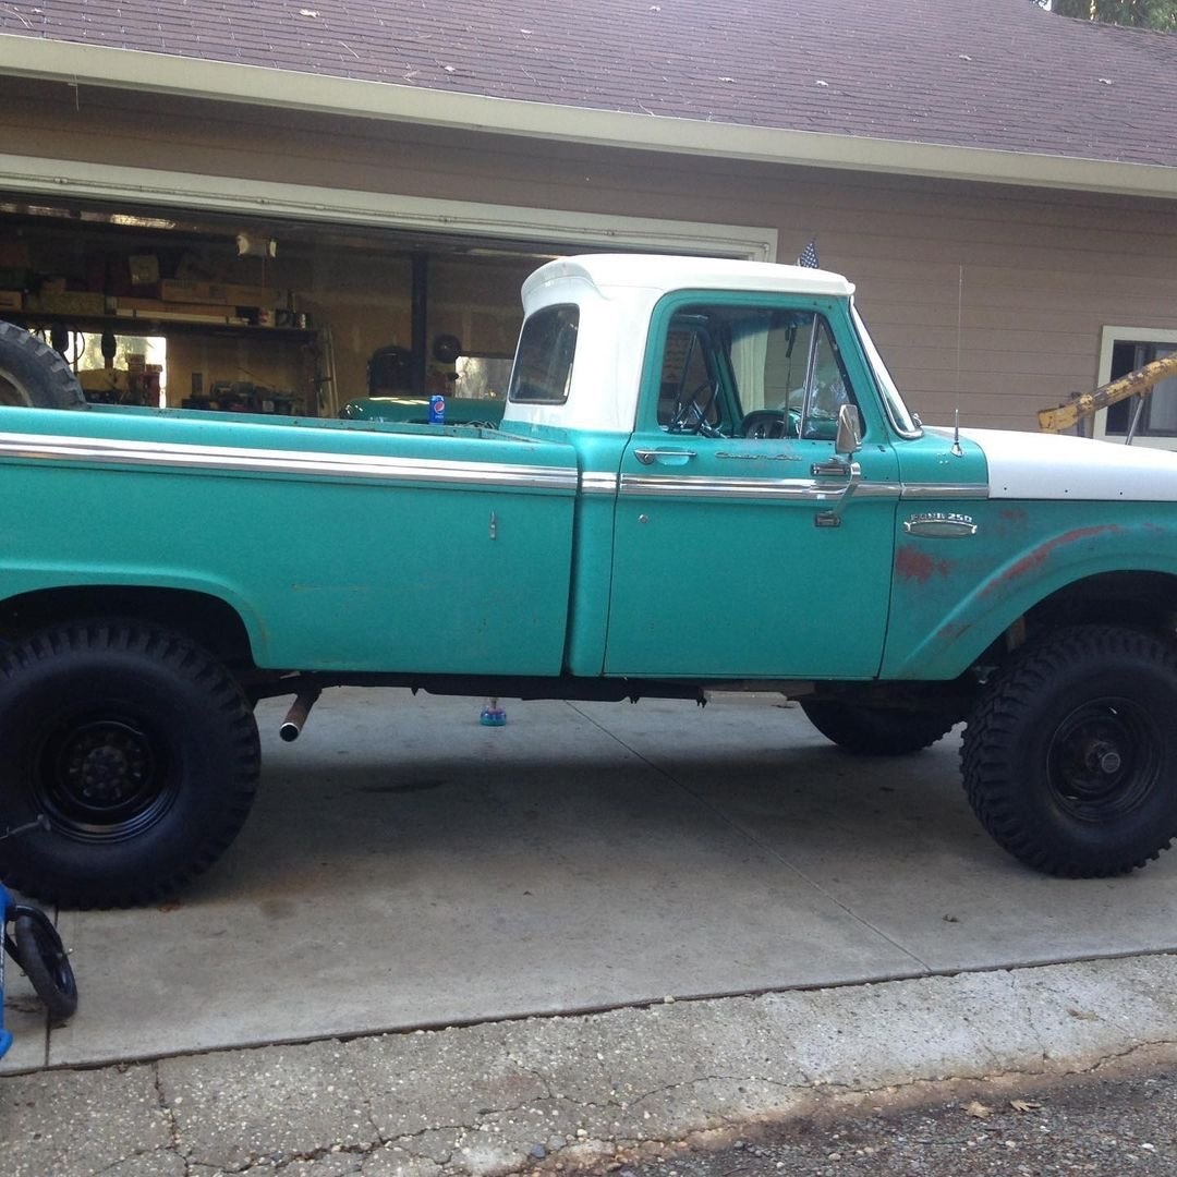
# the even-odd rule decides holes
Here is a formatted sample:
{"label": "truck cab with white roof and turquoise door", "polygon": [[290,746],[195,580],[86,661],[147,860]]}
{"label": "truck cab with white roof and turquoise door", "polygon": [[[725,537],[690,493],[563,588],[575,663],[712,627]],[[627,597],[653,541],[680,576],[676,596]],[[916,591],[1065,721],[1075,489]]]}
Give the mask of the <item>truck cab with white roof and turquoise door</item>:
{"label": "truck cab with white roof and turquoise door", "polygon": [[[581,493],[613,507],[578,537],[574,564],[611,574],[604,649],[573,643],[574,673],[878,673],[900,450],[951,443],[884,385],[852,295],[822,271],[693,258],[563,260],[527,281],[503,428],[574,439]],[[969,451],[949,494],[984,493]]]}

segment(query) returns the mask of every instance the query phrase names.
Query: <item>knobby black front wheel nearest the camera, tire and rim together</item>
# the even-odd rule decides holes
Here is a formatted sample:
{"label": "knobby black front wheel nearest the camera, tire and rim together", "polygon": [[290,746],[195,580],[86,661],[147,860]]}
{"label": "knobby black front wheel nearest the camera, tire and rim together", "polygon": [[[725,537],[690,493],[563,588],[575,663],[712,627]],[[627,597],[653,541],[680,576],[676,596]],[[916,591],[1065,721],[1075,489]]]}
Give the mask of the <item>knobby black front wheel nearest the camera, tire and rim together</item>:
{"label": "knobby black front wheel nearest the camera, tire and rim together", "polygon": [[1028,647],[983,697],[962,749],[969,803],[1028,866],[1105,878],[1177,836],[1177,646],[1075,626]]}

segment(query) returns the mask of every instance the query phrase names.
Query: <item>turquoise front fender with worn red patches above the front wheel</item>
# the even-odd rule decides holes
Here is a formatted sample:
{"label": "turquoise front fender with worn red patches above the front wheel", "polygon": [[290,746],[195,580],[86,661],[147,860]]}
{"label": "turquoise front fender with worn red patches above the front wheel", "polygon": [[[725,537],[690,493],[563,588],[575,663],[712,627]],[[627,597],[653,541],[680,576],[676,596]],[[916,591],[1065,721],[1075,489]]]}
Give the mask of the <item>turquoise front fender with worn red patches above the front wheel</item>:
{"label": "turquoise front fender with worn red patches above the front wheel", "polygon": [[897,537],[883,678],[956,678],[1035,605],[1100,573],[1172,576],[1177,601],[1177,504],[998,500],[971,517],[973,536]]}

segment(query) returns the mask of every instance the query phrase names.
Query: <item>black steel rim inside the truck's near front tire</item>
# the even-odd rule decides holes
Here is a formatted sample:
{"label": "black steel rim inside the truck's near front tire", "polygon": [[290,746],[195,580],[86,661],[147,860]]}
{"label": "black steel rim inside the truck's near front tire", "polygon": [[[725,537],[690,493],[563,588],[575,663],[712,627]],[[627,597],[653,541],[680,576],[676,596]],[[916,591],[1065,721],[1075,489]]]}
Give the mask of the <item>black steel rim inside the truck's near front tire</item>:
{"label": "black steel rim inside the truck's near front tire", "polygon": [[1102,824],[1136,812],[1161,776],[1162,742],[1148,711],[1108,698],[1072,711],[1046,751],[1056,804],[1080,822]]}

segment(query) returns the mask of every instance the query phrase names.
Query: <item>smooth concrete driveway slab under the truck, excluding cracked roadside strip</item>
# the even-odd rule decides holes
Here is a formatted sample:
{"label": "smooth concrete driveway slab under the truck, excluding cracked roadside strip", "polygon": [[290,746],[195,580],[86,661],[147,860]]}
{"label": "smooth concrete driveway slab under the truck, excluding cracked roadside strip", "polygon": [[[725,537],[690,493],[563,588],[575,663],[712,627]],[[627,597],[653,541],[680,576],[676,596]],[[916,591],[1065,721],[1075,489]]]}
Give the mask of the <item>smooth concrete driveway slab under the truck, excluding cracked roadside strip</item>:
{"label": "smooth concrete driveway slab under the truck, excluding cracked roadside strip", "polygon": [[1177,856],[1031,873],[958,739],[847,756],[778,697],[518,703],[331,691],[259,707],[245,832],[175,902],[64,912],[81,1005],[9,973],[0,1063],[49,1065],[1172,950]]}

